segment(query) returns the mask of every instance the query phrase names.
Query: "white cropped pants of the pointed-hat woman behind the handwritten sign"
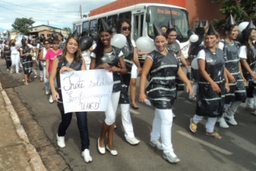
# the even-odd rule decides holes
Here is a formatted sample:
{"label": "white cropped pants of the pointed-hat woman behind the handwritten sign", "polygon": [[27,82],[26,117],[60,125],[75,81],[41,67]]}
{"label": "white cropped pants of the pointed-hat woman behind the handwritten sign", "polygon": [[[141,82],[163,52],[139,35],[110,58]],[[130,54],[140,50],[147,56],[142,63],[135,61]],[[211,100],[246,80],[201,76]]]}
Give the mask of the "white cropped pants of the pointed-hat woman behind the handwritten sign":
{"label": "white cropped pants of the pointed-hat woman behind the handwritten sign", "polygon": [[116,120],[116,110],[118,109],[119,97],[120,97],[120,91],[112,92],[109,105],[107,105],[107,110],[105,112],[105,115],[106,115],[105,123],[107,125],[112,125]]}

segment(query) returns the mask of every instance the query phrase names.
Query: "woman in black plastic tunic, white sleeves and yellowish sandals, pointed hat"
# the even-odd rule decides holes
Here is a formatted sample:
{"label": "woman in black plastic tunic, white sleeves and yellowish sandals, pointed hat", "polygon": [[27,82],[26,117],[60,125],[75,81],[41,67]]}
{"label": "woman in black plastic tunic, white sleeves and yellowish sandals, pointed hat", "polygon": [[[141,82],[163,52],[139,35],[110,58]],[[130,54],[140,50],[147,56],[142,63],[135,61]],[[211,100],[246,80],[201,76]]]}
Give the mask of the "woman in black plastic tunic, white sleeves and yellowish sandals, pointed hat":
{"label": "woman in black plastic tunic, white sleeves and yellowish sandals, pointed hat", "polygon": [[196,132],[197,123],[203,117],[208,117],[205,125],[206,135],[221,139],[221,136],[214,132],[214,125],[217,117],[221,117],[223,114],[225,88],[228,92],[229,86],[225,72],[224,54],[217,48],[217,42],[219,42],[219,34],[210,25],[205,34],[205,48],[197,55],[201,77],[197,92],[196,114],[190,119],[190,130]]}

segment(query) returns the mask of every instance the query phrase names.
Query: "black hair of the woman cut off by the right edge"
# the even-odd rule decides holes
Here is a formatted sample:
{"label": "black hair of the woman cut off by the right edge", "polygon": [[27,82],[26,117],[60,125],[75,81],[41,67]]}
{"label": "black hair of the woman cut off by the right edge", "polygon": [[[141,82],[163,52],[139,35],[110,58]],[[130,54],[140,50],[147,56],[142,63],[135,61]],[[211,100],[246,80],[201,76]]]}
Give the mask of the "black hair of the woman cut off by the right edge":
{"label": "black hair of the woman cut off by the right edge", "polygon": [[[250,55],[250,54],[252,54],[253,52],[253,50],[250,48],[250,44],[248,43],[248,41],[249,41],[249,37],[250,37],[250,33],[251,32],[253,32],[253,30],[256,30],[255,28],[250,28],[250,29],[244,29],[242,32],[241,32],[241,34],[242,34],[242,36],[243,36],[243,45],[244,46],[246,46],[246,57],[248,58],[250,58],[250,61],[254,61],[255,59],[253,59],[254,57],[253,57],[253,55]],[[256,48],[256,44],[255,43],[253,43],[253,46],[254,46],[254,48]]]}

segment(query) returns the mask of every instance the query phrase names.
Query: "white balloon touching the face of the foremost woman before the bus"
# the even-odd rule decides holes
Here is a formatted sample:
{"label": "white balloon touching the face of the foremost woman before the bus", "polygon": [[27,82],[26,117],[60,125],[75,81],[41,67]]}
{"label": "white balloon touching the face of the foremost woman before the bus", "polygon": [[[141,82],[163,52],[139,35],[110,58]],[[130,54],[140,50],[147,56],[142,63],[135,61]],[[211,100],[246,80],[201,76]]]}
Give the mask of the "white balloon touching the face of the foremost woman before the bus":
{"label": "white balloon touching the face of the foremost woman before the bus", "polygon": [[152,52],[154,50],[154,41],[149,37],[140,37],[136,41],[136,46],[142,52]]}

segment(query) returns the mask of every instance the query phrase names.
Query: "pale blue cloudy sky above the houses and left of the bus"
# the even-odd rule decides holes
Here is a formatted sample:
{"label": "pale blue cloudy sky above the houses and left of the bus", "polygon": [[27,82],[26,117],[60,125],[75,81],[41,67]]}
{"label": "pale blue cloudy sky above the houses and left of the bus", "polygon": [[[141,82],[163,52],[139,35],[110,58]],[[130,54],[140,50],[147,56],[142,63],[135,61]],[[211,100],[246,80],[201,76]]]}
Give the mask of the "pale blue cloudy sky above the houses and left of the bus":
{"label": "pale blue cloudy sky above the houses and left of the bus", "polygon": [[0,0],[0,32],[11,30],[15,19],[23,17],[33,17],[33,26],[47,25],[49,22],[49,26],[72,28],[72,22],[80,19],[80,5],[82,14],[87,14],[112,1],[114,0]]}

